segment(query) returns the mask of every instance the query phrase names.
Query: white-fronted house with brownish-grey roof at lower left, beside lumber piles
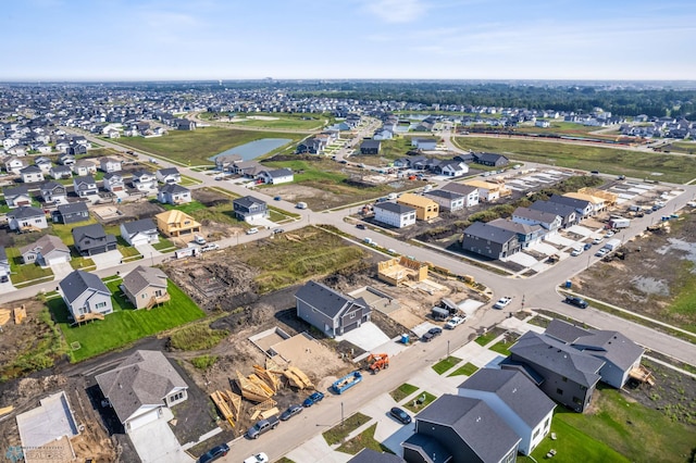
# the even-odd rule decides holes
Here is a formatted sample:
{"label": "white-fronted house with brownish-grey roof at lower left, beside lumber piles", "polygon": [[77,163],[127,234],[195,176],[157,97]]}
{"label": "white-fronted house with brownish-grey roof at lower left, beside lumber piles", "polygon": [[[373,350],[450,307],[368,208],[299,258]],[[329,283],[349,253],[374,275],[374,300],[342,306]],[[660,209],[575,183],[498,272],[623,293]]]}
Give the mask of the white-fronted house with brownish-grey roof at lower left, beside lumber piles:
{"label": "white-fronted house with brownish-grey roof at lower left, beside lumber piles", "polygon": [[119,366],[95,376],[126,433],[162,417],[188,399],[188,386],[162,352],[138,350]]}

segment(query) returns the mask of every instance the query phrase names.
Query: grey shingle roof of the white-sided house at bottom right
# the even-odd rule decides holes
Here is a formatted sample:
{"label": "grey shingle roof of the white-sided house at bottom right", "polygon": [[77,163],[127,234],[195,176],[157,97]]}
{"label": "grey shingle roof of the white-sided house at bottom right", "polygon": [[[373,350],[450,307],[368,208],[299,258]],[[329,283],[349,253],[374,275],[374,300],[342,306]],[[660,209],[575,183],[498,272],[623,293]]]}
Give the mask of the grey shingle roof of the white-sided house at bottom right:
{"label": "grey shingle roof of the white-sided house at bottom right", "polygon": [[524,374],[512,370],[481,368],[459,389],[494,392],[531,428],[556,408],[556,403]]}

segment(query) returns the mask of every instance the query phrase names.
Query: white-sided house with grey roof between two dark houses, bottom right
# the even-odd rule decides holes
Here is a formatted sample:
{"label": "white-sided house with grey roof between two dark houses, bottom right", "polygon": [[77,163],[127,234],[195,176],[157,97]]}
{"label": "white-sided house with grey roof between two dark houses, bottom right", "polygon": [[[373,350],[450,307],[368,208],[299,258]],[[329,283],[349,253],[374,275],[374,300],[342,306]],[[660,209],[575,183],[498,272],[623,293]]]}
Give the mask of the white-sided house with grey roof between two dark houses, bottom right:
{"label": "white-sided house with grey roof between two dark houses, bottom right", "polygon": [[532,453],[551,429],[556,403],[520,372],[481,368],[458,389],[461,397],[486,402],[514,430],[522,454]]}

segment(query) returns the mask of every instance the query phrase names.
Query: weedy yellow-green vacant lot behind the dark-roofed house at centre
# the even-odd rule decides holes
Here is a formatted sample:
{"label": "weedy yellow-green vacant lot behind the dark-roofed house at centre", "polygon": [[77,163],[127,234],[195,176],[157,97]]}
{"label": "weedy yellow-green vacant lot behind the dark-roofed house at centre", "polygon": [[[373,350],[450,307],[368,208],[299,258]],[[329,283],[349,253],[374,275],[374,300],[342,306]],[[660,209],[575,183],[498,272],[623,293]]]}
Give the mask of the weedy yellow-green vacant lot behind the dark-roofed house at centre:
{"label": "weedy yellow-green vacant lot behind the dark-roofed house at centre", "polygon": [[365,255],[362,249],[314,227],[237,247],[235,252],[238,259],[260,271],[256,277],[259,293],[357,265]]}

